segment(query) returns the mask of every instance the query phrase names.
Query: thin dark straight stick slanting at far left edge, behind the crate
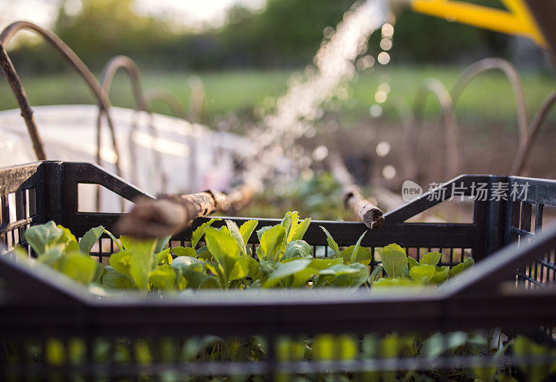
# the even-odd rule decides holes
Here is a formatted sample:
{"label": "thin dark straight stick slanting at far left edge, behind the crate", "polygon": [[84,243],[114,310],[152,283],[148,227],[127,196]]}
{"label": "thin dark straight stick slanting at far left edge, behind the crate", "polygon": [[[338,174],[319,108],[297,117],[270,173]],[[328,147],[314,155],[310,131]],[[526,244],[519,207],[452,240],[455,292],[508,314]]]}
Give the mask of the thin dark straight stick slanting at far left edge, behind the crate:
{"label": "thin dark straight stick slanting at far left edge, behind the crate", "polygon": [[22,110],[22,117],[27,125],[27,130],[31,136],[31,142],[33,142],[33,149],[35,150],[35,155],[38,160],[46,160],[47,155],[44,153],[44,145],[40,139],[40,135],[37,129],[37,123],[35,122],[35,117],[33,117],[33,109],[29,104],[27,95],[25,94],[25,89],[23,88],[22,81],[19,79],[15,68],[13,67],[12,60],[8,57],[6,49],[4,49],[3,44],[0,42],[0,66],[6,79],[12,88],[15,99],[17,100],[17,105],[19,110]]}

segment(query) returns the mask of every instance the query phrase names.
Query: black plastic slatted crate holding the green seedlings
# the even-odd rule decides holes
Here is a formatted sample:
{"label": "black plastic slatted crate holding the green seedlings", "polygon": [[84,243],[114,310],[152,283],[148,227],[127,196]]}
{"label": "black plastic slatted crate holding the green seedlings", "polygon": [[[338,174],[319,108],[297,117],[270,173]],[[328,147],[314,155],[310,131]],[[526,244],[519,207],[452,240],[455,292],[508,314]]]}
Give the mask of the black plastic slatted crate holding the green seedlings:
{"label": "black plastic slatted crate holding the green seedlings", "polygon": [[[0,169],[0,244],[26,247],[25,229],[49,220],[66,226],[78,238],[92,226],[111,230],[120,214],[80,212],[80,183],[103,185],[130,200],[144,195],[89,163],[45,161]],[[459,194],[473,196],[477,184],[484,185],[486,197],[471,201],[473,222],[406,222],[450,199],[452,191],[457,191],[457,198]],[[512,194],[525,185],[526,194]],[[261,290],[203,291],[172,299],[134,295],[93,299],[84,288],[54,272],[37,272],[6,260],[9,255],[4,251],[0,256],[0,342],[9,351],[0,351],[0,375],[15,380],[131,377],[181,381],[235,376],[239,380],[287,381],[304,376],[311,380],[389,381],[402,370],[415,369],[438,370],[430,376],[448,381],[454,370],[489,365],[521,366],[522,374],[527,367],[549,372],[556,356],[548,350],[541,356],[531,349],[525,355],[504,358],[455,356],[450,351],[423,358],[401,350],[392,354],[385,347],[393,333],[400,336],[399,342],[393,342],[395,346],[402,346],[401,338],[408,335],[418,338],[445,333],[442,341],[447,343],[449,333],[455,331],[471,335],[492,333],[496,328],[495,333],[503,331],[508,338],[520,333],[550,345],[556,322],[556,293],[550,288],[556,280],[556,230],[541,233],[546,205],[556,205],[556,181],[459,176],[387,213],[384,226],[363,238],[362,245],[371,253],[395,242],[416,258],[422,251],[439,251],[443,265],[451,266],[467,256],[477,262],[474,271],[466,272],[458,283],[418,294]],[[238,224],[245,220],[232,219]],[[206,219],[198,219],[193,228],[202,222]],[[257,229],[277,222],[279,219],[259,219]],[[328,256],[319,226],[341,247],[354,244],[366,231],[359,222],[311,222],[304,240],[319,256]],[[174,235],[170,245],[186,244],[190,235],[190,230]],[[249,242],[254,249],[256,235]],[[113,251],[113,245],[101,239],[92,256],[106,263]],[[370,266],[377,263],[373,259]],[[207,360],[203,354],[188,353],[195,344],[206,344],[208,335],[218,336],[208,338],[214,341],[214,349],[220,349],[216,358]],[[294,356],[300,339],[313,344],[311,351],[320,341],[331,347],[332,354],[324,358],[315,353]],[[253,342],[250,349],[259,349],[261,354],[254,357],[226,349],[229,344],[245,342]],[[344,345],[357,348],[347,359],[341,355]]]}

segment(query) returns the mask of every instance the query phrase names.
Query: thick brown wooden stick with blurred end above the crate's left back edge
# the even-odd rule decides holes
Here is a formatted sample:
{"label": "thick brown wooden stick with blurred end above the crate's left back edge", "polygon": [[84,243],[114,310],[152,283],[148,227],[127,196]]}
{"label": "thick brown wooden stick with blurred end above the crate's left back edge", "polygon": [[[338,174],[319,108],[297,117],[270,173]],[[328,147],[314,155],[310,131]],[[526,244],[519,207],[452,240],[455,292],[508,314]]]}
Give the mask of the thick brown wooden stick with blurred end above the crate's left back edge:
{"label": "thick brown wooden stick with blurred end above the crate's left back edge", "polygon": [[196,194],[169,194],[160,199],[140,198],[129,214],[116,224],[121,235],[134,238],[159,238],[187,229],[194,219],[220,210],[243,206],[250,201],[254,189],[244,185],[229,194],[204,191]]}

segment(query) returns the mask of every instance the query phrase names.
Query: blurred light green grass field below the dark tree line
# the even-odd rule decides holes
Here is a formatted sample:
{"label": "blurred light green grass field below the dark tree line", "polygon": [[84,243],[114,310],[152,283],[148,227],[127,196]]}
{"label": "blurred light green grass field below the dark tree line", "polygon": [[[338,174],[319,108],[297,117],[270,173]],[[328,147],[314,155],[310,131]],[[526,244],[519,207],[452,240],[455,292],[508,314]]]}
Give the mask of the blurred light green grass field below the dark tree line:
{"label": "blurred light green grass field below the dark tree line", "polygon": [[[393,109],[394,101],[401,97],[413,103],[417,89],[425,78],[438,78],[448,90],[455,83],[461,68],[456,67],[380,67],[375,73],[362,73],[351,83],[352,101],[346,103],[338,114],[347,122],[357,122],[368,118],[368,108],[374,102],[377,86],[384,80],[390,81],[391,92],[384,103],[383,118],[397,120]],[[171,90],[188,104],[190,89],[188,78],[193,73],[145,72],[143,83],[146,89],[161,87]],[[267,97],[277,97],[286,90],[292,72],[288,71],[227,71],[195,73],[202,78],[206,91],[206,104],[202,122],[213,124],[217,115],[233,112],[240,119],[250,119],[254,107],[261,106]],[[555,80],[550,74],[522,72],[525,97],[530,113],[534,113],[547,94],[555,88]],[[51,76],[22,75],[22,81],[32,105],[54,105],[63,103],[94,103],[88,88],[76,74],[62,73]],[[0,109],[15,108],[6,81],[1,80]],[[117,74],[111,90],[115,106],[133,107],[129,81],[123,74]],[[438,113],[436,102],[427,103],[428,117]],[[169,113],[164,105],[155,105],[160,113]],[[462,122],[512,124],[515,122],[515,97],[512,88],[502,74],[485,73],[475,78],[462,95],[457,105],[457,117]],[[555,113],[556,114],[556,113]],[[551,120],[556,119],[553,115]]]}

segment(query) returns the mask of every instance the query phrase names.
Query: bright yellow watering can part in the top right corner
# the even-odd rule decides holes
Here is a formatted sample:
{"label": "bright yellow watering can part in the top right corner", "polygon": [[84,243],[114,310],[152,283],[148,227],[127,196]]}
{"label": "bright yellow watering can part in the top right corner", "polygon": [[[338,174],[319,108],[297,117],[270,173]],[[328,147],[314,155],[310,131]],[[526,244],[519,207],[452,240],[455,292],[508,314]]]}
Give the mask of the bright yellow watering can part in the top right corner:
{"label": "bright yellow watering can part in the top right corner", "polygon": [[523,0],[501,0],[507,10],[455,0],[412,0],[411,8],[449,21],[531,38],[546,46],[543,35]]}

